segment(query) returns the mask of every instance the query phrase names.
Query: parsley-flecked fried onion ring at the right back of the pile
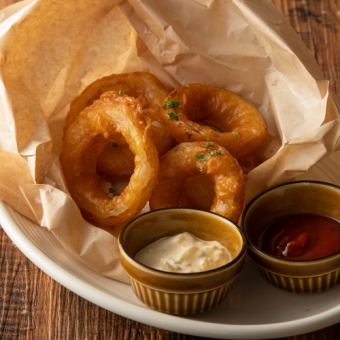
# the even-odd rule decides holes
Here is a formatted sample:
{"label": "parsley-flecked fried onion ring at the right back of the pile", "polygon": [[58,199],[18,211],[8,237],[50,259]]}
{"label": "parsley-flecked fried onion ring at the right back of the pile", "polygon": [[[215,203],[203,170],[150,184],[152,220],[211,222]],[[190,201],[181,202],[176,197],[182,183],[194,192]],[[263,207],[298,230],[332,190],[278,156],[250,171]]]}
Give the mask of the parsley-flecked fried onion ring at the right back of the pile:
{"label": "parsley-flecked fried onion ring at the right back of the pile", "polygon": [[212,141],[241,159],[265,141],[257,109],[235,93],[203,84],[180,86],[163,104],[163,118],[178,142]]}

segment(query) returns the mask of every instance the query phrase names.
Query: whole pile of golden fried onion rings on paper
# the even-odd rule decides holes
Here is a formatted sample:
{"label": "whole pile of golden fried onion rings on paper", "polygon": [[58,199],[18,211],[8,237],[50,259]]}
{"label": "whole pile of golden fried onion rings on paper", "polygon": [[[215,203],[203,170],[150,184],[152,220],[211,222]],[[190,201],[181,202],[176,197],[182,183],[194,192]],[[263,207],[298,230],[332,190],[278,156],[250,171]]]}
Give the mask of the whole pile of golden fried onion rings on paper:
{"label": "whole pile of golden fried onion rings on paper", "polygon": [[[61,153],[65,178],[84,216],[114,234],[148,200],[151,209],[240,218],[240,164],[247,171],[257,165],[267,137],[260,113],[236,94],[202,84],[166,95],[157,78],[136,72],[97,80],[71,104]],[[117,191],[119,178],[128,183]]]}

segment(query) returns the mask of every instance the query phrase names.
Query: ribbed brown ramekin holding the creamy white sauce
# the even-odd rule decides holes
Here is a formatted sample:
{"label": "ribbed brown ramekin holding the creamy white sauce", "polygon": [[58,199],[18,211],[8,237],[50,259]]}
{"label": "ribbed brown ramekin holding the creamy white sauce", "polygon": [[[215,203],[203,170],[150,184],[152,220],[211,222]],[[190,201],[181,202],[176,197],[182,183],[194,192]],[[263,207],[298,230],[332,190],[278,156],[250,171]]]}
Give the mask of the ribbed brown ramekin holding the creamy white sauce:
{"label": "ribbed brown ramekin holding the creamy white sauce", "polygon": [[[174,273],[135,260],[145,246],[183,232],[219,241],[232,254],[231,262],[204,272]],[[121,264],[137,297],[153,309],[177,315],[200,313],[220,303],[241,271],[246,253],[243,234],[233,222],[210,212],[183,208],[138,216],[122,229],[118,243]]]}

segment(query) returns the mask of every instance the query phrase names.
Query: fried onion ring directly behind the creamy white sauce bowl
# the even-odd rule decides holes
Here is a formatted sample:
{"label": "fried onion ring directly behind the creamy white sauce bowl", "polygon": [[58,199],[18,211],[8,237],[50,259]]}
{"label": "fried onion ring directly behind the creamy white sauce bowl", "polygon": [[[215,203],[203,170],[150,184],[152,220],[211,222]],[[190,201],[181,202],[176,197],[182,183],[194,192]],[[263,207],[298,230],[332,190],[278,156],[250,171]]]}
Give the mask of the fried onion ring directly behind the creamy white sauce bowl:
{"label": "fried onion ring directly behind the creamy white sauce bowl", "polygon": [[[205,176],[203,190],[198,188],[200,175]],[[196,192],[202,195],[207,192],[209,195],[207,180],[211,183],[213,197],[206,210],[237,222],[244,200],[243,172],[237,160],[225,148],[212,142],[181,143],[162,157],[158,182],[150,199],[151,209],[199,207],[195,203],[197,194],[186,193],[186,187],[189,185],[193,188],[192,184],[195,184]],[[206,197],[202,198],[206,200]]]}

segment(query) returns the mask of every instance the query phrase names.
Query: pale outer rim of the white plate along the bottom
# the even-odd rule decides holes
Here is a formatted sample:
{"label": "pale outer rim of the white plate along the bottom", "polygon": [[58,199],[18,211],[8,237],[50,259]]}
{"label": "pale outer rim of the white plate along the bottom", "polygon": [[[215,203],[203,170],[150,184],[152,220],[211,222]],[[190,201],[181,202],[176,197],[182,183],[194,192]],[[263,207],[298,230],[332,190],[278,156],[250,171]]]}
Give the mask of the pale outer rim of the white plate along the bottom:
{"label": "pale outer rim of the white plate along the bottom", "polygon": [[[12,210],[12,212],[11,212]],[[45,274],[82,298],[113,313],[131,320],[166,329],[176,333],[215,338],[272,338],[312,332],[330,326],[340,320],[340,303],[319,314],[285,322],[268,324],[218,324],[163,314],[103,292],[55,263],[36,247],[21,231],[11,214],[19,214],[0,202],[0,224],[6,235],[18,249]],[[19,214],[20,215],[20,214]],[[22,216],[22,215],[21,215]],[[39,227],[37,225],[37,227]],[[113,280],[114,281],[114,280]]]}

